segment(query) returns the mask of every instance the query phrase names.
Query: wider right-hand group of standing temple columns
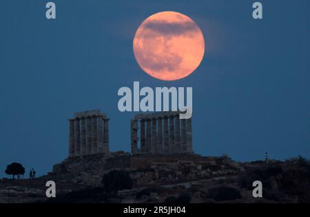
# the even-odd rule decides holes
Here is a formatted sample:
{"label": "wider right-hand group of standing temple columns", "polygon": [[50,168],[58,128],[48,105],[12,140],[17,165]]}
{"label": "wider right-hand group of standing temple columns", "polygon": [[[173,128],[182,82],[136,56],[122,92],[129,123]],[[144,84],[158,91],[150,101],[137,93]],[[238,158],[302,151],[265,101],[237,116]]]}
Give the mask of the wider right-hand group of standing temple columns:
{"label": "wider right-hand group of standing temple columns", "polygon": [[136,115],[131,120],[131,150],[133,155],[192,154],[192,118],[180,119],[180,112]]}

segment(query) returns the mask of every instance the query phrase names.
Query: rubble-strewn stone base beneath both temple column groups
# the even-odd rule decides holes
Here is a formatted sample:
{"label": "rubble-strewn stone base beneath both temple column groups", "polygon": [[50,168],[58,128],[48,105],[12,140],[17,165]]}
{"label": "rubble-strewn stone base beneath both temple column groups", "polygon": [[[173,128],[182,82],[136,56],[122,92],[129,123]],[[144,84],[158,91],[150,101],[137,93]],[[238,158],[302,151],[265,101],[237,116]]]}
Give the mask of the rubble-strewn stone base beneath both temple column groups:
{"label": "rubble-strewn stone base beneath both temple column groups", "polygon": [[126,154],[69,158],[54,165],[50,175],[62,182],[96,186],[101,185],[103,175],[113,169],[130,171],[135,186],[207,179],[240,170],[228,157]]}

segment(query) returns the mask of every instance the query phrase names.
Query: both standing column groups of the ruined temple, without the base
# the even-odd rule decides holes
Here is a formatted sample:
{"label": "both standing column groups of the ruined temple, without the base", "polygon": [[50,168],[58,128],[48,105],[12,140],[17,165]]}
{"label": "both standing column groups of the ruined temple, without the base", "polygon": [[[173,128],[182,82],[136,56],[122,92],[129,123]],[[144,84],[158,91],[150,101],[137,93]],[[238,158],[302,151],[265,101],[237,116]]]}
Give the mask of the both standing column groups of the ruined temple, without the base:
{"label": "both standing column groups of the ruined temple, without the base", "polygon": [[[109,120],[99,110],[74,113],[69,119],[69,157],[109,153]],[[131,120],[131,152],[193,154],[192,118],[180,119],[180,112],[172,111],[136,115]]]}

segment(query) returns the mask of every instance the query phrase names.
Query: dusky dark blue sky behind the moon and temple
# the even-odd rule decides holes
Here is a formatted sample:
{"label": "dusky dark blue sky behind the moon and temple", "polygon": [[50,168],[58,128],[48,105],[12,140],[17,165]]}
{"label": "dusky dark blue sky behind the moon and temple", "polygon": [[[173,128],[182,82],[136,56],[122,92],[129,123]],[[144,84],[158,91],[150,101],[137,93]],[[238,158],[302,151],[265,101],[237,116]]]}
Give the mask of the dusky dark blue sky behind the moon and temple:
{"label": "dusky dark blue sky behind the moon and temple", "polygon": [[[68,118],[101,109],[110,150],[130,150],[130,119],[119,88],[193,87],[194,151],[235,160],[310,157],[310,1],[261,1],[252,19],[244,1],[0,2],[0,176],[18,161],[38,174],[68,156]],[[191,17],[206,40],[192,75],[163,82],[144,73],[132,51],[148,16]]]}

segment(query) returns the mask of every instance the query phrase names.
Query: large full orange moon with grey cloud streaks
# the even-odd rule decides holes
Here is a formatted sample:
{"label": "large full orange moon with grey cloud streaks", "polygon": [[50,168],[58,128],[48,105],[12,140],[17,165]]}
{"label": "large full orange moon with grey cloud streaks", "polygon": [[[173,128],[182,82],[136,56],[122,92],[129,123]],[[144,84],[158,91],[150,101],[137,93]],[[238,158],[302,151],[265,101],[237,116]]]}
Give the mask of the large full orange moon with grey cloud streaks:
{"label": "large full orange moon with grey cloud streaks", "polygon": [[196,23],[178,12],[149,16],[134,36],[138,65],[154,78],[178,80],[189,76],[203,60],[205,39]]}

